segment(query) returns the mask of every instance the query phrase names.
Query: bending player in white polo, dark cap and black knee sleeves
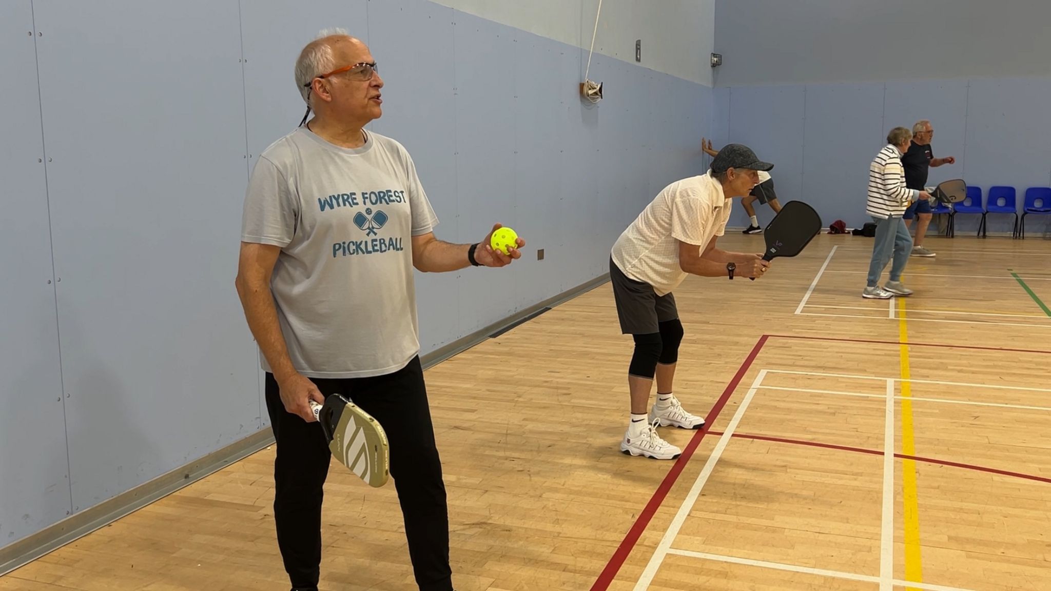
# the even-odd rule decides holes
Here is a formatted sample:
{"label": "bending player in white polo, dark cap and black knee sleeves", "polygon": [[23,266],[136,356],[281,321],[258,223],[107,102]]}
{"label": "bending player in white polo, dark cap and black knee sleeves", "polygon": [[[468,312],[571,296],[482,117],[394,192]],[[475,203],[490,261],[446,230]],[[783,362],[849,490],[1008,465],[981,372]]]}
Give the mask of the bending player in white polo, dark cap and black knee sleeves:
{"label": "bending player in white polo, dark cap and black knee sleeves", "polygon": [[[627,370],[631,419],[620,450],[673,460],[682,450],[662,440],[657,426],[699,429],[704,420],[686,412],[673,393],[683,329],[672,291],[687,273],[758,278],[769,266],[761,254],[716,248],[729,219],[731,199],[759,183],[772,164],[729,144],[704,175],[665,187],[620,235],[610,258],[610,278],[621,332],[632,334],[635,352]],[[657,402],[646,413],[654,376]]]}

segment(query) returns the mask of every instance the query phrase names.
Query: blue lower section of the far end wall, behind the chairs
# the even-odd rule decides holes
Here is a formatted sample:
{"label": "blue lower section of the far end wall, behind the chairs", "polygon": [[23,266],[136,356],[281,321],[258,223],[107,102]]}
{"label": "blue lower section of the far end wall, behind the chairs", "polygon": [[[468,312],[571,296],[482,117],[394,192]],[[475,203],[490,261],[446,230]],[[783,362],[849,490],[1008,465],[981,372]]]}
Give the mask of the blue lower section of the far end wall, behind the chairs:
{"label": "blue lower section of the far end wall, behind the chairs", "polygon": [[[782,203],[801,199],[817,207],[825,225],[842,219],[857,227],[870,221],[868,165],[887,133],[929,119],[934,155],[956,159],[931,168],[929,184],[964,179],[983,190],[1013,185],[1021,211],[1027,187],[1051,185],[1048,96],[1051,78],[720,87],[716,102],[725,106],[715,116],[725,117],[728,126],[715,147],[726,141],[750,145],[776,164],[771,175]],[[762,224],[772,217],[765,206],[757,215]],[[944,228],[945,220],[939,222]],[[742,209],[730,223],[747,225]],[[973,233],[977,224],[977,217],[959,217],[957,236]],[[1012,224],[1011,217],[990,216],[988,231],[1010,232]],[[1026,235],[1047,228],[1047,217],[1030,218]]]}

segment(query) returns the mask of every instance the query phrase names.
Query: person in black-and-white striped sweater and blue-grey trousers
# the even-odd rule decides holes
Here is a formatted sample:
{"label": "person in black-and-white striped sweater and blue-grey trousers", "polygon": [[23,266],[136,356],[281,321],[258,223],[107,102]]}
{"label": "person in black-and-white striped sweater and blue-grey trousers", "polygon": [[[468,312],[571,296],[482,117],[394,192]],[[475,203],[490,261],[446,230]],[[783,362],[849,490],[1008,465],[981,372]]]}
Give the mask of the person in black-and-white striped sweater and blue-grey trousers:
{"label": "person in black-and-white striped sweater and blue-grey trousers", "polygon": [[[862,298],[887,300],[894,295],[912,294],[912,290],[902,284],[902,271],[912,251],[912,236],[902,217],[912,202],[929,200],[930,195],[905,186],[902,155],[911,142],[910,129],[894,127],[887,134],[887,145],[875,155],[868,168],[866,212],[875,222],[875,244],[872,245],[868,284],[862,291]],[[880,277],[891,258],[890,280],[881,287]]]}

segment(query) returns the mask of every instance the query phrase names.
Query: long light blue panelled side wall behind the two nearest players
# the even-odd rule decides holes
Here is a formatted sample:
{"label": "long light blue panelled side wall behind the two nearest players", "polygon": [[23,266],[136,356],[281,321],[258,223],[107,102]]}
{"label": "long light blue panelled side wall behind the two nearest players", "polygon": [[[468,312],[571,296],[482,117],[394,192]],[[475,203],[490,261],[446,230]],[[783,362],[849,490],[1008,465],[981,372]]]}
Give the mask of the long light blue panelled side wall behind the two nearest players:
{"label": "long light blue panelled side wall behind the two nearest players", "polygon": [[413,155],[438,236],[529,240],[508,269],[417,273],[424,352],[602,274],[704,170],[709,87],[596,55],[583,104],[586,52],[424,0],[0,3],[0,546],[267,426],[241,206],[328,26],[371,44],[372,128]]}

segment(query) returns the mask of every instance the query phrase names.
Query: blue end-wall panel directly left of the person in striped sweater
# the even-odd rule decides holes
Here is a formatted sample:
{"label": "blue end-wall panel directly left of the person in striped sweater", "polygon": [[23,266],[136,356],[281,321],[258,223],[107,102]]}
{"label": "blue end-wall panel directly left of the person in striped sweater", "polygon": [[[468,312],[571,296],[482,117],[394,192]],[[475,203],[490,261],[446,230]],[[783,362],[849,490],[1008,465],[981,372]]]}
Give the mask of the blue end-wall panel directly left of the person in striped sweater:
{"label": "blue end-wall panel directly left of the person in striped sweater", "polygon": [[826,226],[836,220],[851,227],[870,221],[868,166],[887,139],[883,84],[807,86],[804,117],[803,195]]}

